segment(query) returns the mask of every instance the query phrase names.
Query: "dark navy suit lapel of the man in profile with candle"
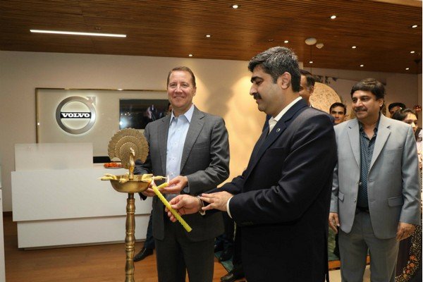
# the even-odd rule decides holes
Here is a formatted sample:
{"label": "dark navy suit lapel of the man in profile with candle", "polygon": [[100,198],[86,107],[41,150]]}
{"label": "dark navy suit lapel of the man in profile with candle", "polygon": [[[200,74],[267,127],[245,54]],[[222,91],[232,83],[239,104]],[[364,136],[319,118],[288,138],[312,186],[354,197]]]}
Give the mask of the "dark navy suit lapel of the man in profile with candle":
{"label": "dark navy suit lapel of the man in profile with candle", "polygon": [[259,159],[262,158],[264,152],[266,152],[266,149],[269,149],[269,147],[275,142],[275,140],[278,139],[279,136],[281,136],[281,134],[286,130],[286,128],[288,128],[288,121],[290,121],[293,116],[304,107],[307,107],[307,104],[304,102],[303,99],[301,99],[290,107],[290,109],[282,116],[278,123],[276,123],[275,127],[273,128],[273,130],[271,130],[271,133],[269,135],[266,136],[267,130],[262,133],[262,136],[260,137],[259,141],[262,140],[262,137],[265,137],[265,139],[262,142],[262,145],[259,145],[259,141],[257,141],[257,147],[255,147],[255,150],[257,150],[257,155],[254,155],[254,150],[252,153],[252,158],[250,159],[250,164],[245,178],[250,175],[252,169],[256,166]]}

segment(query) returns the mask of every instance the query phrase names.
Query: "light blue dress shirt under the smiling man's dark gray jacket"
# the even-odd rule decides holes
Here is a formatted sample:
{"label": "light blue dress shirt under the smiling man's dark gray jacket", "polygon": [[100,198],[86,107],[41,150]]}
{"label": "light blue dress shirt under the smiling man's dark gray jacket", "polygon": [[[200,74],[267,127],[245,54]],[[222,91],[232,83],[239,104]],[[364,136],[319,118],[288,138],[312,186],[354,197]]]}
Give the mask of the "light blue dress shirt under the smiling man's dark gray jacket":
{"label": "light blue dress shirt under the smiling man's dark gray jacket", "polygon": [[[176,117],[172,111],[166,147],[166,176],[168,176],[169,180],[176,178],[176,176],[180,176],[180,161],[182,159],[185,138],[187,137],[188,128],[190,128],[193,113],[194,104],[191,105],[190,109],[188,109],[185,114],[178,117]],[[166,195],[166,199],[168,200],[173,197],[176,197],[176,195]]]}

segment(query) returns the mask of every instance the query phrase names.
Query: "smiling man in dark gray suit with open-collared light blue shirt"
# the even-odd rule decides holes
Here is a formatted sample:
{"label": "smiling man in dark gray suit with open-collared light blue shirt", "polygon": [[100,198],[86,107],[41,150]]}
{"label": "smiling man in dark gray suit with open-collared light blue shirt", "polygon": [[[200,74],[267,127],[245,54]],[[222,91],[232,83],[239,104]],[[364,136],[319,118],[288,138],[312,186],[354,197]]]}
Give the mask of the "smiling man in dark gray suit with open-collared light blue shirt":
{"label": "smiling man in dark gray suit with open-collared light blue shirt", "polygon": [[[200,195],[216,188],[229,175],[228,132],[223,118],[199,111],[192,104],[195,75],[190,68],[173,68],[168,74],[167,92],[171,115],[149,123],[145,137],[149,156],[137,161],[135,173],[168,176],[169,187],[161,190],[170,200],[177,194]],[[151,188],[142,197],[152,197]],[[199,200],[200,204],[200,200]],[[223,233],[221,214],[190,214],[186,232],[164,214],[164,204],[153,198],[153,235],[160,282],[211,282],[214,268],[214,238]]]}

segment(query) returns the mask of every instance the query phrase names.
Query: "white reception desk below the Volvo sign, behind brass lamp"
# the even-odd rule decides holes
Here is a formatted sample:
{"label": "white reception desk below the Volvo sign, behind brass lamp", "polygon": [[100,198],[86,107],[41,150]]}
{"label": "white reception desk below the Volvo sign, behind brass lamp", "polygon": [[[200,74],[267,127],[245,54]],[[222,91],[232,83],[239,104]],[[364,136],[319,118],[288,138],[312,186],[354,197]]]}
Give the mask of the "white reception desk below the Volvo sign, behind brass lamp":
{"label": "white reception desk below the Volvo sign, behind brass lamp", "polygon": [[[104,173],[125,174],[127,170],[92,164],[92,154],[81,156],[85,160],[75,162],[80,154],[78,152],[86,154],[87,148],[89,151],[92,146],[80,144],[82,147],[62,144],[41,150],[39,146],[42,144],[16,145],[16,158],[24,158],[16,159],[16,171],[12,172],[13,221],[18,225],[18,247],[102,244],[125,240],[128,194],[116,192],[109,181],[98,178]],[[27,154],[22,154],[22,151]],[[26,164],[33,162],[28,160],[28,153],[32,159],[34,151],[35,158],[40,158],[36,162],[38,165],[28,167]],[[70,163],[73,161],[75,164],[61,163],[61,169],[49,168],[49,154],[59,151],[69,154]],[[63,159],[66,160],[66,157]],[[151,198],[141,201],[135,195],[137,240],[145,239],[151,209]]]}

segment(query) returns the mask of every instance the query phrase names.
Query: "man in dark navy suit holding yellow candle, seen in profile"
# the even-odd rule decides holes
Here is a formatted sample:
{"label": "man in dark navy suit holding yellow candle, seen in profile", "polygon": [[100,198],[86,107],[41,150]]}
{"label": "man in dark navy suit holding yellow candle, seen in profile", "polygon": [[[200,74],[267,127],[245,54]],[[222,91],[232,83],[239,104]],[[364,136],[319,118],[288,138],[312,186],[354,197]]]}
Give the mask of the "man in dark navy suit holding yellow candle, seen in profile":
{"label": "man in dark navy suit holding yellow candle, seen in profile", "polygon": [[248,68],[250,95],[259,111],[271,118],[247,168],[200,199],[180,195],[171,204],[180,214],[200,209],[228,212],[242,230],[248,282],[324,281],[336,164],[331,119],[299,96],[300,70],[290,49],[266,50]]}

